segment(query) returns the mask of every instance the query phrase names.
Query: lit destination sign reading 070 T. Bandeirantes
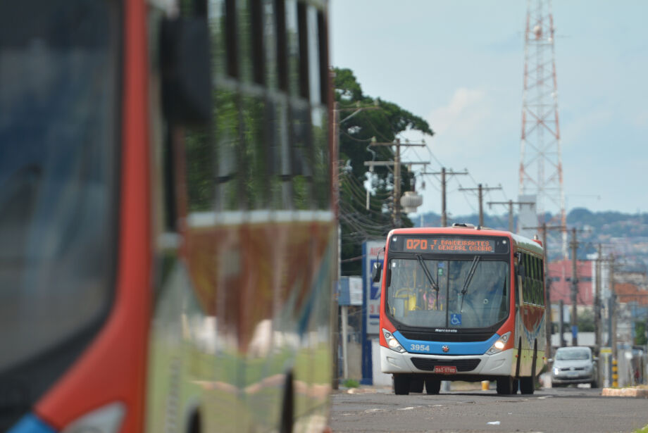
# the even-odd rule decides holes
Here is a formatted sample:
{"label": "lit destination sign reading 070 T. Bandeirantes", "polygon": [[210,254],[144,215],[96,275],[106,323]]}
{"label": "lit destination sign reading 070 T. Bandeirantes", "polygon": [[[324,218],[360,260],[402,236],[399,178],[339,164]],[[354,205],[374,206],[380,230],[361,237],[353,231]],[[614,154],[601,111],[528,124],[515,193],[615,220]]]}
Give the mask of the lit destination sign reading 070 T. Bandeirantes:
{"label": "lit destination sign reading 070 T. Bandeirantes", "polygon": [[407,253],[502,254],[509,252],[504,237],[394,236],[391,251]]}

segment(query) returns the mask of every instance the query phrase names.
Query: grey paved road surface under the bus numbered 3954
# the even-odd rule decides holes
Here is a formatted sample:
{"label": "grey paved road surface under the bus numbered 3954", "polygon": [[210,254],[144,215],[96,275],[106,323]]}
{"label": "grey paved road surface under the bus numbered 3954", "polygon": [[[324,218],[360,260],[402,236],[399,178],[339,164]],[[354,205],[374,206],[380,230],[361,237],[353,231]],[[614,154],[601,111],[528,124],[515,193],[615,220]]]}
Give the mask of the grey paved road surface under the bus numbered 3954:
{"label": "grey paved road surface under the bus numbered 3954", "polygon": [[629,433],[648,425],[647,399],[602,397],[600,389],[543,389],[530,396],[499,396],[494,390],[437,396],[366,391],[332,396],[333,432]]}

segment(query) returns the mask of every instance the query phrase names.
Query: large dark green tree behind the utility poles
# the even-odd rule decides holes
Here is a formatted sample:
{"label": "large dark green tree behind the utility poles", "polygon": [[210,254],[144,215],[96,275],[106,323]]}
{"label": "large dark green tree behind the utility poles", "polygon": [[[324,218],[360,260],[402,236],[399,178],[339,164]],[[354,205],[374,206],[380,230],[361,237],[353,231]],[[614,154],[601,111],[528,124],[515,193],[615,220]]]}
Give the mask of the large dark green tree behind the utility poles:
{"label": "large dark green tree behind the utility poles", "polygon": [[[390,146],[370,146],[371,142],[391,143],[406,130],[434,134],[423,119],[395,103],[363,94],[354,73],[335,68],[333,85],[339,109],[340,222],[342,225],[342,273],[361,272],[361,244],[367,239],[385,237],[393,228],[393,169],[375,167],[368,177],[365,161],[393,161]],[[366,209],[365,184],[370,183],[370,206]],[[413,173],[401,166],[401,191],[411,190]],[[402,215],[402,225],[412,222]],[[349,259],[352,259],[349,261]]]}

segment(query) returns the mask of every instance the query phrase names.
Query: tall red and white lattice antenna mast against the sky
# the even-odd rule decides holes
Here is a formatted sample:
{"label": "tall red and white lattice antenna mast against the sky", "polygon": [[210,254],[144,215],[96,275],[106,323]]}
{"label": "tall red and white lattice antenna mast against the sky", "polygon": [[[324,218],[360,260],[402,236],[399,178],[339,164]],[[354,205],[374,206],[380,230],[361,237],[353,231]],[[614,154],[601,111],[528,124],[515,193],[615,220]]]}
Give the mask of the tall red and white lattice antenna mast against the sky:
{"label": "tall red and white lattice antenna mast against the sky", "polygon": [[[520,194],[535,194],[540,223],[549,211],[566,227],[551,0],[527,0],[524,40]],[[566,257],[566,228],[562,238]]]}

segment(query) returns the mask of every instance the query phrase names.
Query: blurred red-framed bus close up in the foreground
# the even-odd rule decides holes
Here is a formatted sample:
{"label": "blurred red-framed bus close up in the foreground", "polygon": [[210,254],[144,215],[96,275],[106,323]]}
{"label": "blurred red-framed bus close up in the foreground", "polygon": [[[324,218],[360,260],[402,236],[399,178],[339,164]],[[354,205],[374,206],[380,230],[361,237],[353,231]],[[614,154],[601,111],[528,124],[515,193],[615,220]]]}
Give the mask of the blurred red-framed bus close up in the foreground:
{"label": "blurred red-framed bus close up in the foreground", "polygon": [[323,431],[326,1],[0,2],[0,431]]}

